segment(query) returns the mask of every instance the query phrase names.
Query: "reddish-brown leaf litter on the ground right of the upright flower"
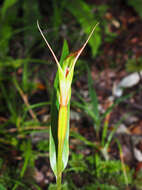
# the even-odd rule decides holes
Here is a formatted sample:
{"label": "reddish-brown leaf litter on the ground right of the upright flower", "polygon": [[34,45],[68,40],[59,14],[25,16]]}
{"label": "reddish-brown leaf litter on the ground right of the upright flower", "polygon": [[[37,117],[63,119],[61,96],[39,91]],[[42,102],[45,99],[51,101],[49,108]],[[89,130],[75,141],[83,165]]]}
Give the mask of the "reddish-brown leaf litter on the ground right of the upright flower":
{"label": "reddish-brown leaf litter on the ground right of the upright flower", "polygon": [[[89,2],[91,3],[91,1]],[[115,89],[120,81],[130,74],[128,67],[131,60],[134,60],[135,64],[139,66],[139,60],[142,56],[142,33],[140,30],[142,28],[142,20],[131,7],[125,7],[124,9],[122,7],[124,5],[120,4],[119,6],[117,5],[114,9],[108,10],[105,14],[105,19],[111,20],[109,30],[115,32],[117,37],[111,43],[102,43],[102,51],[100,50],[102,53],[94,60],[90,60],[92,62],[90,71],[94,81],[93,86],[98,97],[100,114],[103,114],[118,99],[115,96]],[[83,57],[88,60],[88,54],[83,55]],[[131,71],[131,73],[134,72]],[[111,159],[120,159],[119,150],[115,143],[115,139],[117,138],[122,146],[123,161],[134,170],[134,178],[139,171],[142,171],[142,76],[138,73],[137,75],[139,75],[138,82],[134,82],[134,84],[126,87],[123,91],[123,96],[130,94],[131,96],[122,100],[119,105],[116,105],[109,114],[109,118],[107,118],[109,123],[108,134],[121,121],[117,126],[108,150],[109,155]],[[83,73],[73,83],[73,102],[76,100],[80,101],[76,96],[76,92],[82,96],[85,102],[90,100],[86,76],[87,73]],[[129,80],[130,78],[127,82]],[[135,80],[137,80],[137,77],[133,78],[133,81]],[[82,111],[74,104],[71,104],[71,110],[71,132],[77,132],[88,141],[99,144],[94,124],[85,113],[86,110]],[[104,121],[101,123],[99,135],[102,134],[103,123]],[[92,153],[92,150],[88,147],[83,148],[83,150],[80,150],[78,147],[80,147],[80,141],[71,137],[71,154],[72,152],[76,152],[76,154],[81,153],[86,156]],[[43,164],[43,168],[40,168],[41,172],[43,170],[46,170],[45,164]],[[49,171],[48,167],[47,170]],[[45,181],[52,181],[54,179],[50,172],[47,172],[46,175]],[[141,181],[142,178],[139,178],[139,180]],[[41,181],[45,183],[44,180]],[[78,188],[81,188],[87,179],[81,180],[79,175],[75,175],[73,181]],[[136,187],[134,185],[127,189],[136,189]]]}

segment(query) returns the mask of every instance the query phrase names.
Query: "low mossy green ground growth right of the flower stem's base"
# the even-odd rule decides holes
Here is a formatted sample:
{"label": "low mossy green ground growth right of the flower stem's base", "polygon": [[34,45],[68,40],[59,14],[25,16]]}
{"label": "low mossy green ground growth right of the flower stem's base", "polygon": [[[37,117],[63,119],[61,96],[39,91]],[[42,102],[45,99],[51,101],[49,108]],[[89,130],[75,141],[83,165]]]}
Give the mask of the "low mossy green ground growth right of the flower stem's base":
{"label": "low mossy green ground growth right of the flower stem's base", "polygon": [[[87,146],[88,147],[88,146]],[[87,148],[86,147],[86,148]],[[83,145],[83,149],[85,146]],[[126,166],[128,183],[132,184],[133,172]],[[104,160],[99,153],[88,156],[72,153],[69,167],[66,169],[66,179],[69,189],[121,189],[126,187],[126,181],[120,160]]]}

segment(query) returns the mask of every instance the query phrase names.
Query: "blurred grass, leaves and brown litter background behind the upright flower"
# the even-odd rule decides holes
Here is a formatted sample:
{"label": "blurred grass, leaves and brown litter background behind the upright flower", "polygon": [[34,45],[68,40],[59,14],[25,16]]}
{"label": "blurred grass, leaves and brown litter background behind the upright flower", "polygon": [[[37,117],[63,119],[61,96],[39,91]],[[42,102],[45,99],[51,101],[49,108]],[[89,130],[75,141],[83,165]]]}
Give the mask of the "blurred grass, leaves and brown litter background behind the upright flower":
{"label": "blurred grass, leaves and brown litter background behind the upright flower", "polygon": [[75,69],[63,189],[141,190],[141,0],[0,2],[0,190],[55,189],[48,131],[57,68],[37,20],[58,58],[64,39],[74,52],[99,22]]}

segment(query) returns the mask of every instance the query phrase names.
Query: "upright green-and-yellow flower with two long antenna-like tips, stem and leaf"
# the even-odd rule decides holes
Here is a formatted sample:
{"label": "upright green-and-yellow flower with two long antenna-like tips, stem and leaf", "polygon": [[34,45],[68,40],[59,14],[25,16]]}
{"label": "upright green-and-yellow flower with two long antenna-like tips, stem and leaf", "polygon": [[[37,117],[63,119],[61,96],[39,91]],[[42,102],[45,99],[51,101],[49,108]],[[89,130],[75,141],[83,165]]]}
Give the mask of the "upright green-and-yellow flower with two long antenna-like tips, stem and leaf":
{"label": "upright green-and-yellow flower with two long antenna-like tips, stem and leaf", "polygon": [[51,108],[52,113],[49,151],[51,167],[56,176],[57,190],[61,190],[62,172],[67,165],[69,155],[69,113],[71,83],[73,80],[74,67],[80,54],[94,33],[96,26],[93,28],[82,48],[79,51],[70,54],[65,60],[64,58],[68,55],[68,46],[66,41],[64,42],[60,63],[44,37],[38,22],[37,26],[58,66],[58,72],[54,82]]}

